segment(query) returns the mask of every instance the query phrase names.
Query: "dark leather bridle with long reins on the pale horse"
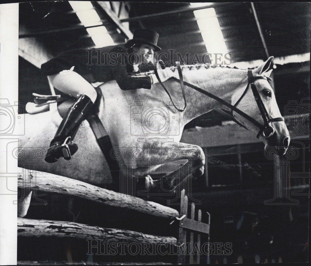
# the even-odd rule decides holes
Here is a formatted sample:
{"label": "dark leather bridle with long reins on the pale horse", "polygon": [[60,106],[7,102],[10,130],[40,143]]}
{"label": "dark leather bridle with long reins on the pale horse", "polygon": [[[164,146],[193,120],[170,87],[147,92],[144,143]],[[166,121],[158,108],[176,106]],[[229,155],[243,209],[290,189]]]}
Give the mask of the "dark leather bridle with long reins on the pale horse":
{"label": "dark leather bridle with long reins on the pale horse", "polygon": [[[173,99],[171,97],[171,95],[169,94],[168,90],[165,88],[164,84],[162,83],[162,81],[160,80],[159,74],[158,74],[158,67],[159,66],[164,66],[163,62],[159,61],[157,62],[157,65],[155,66],[155,75],[156,78],[158,79],[160,85],[163,87],[163,89],[166,91],[166,93],[169,95],[169,99],[171,100],[173,106],[179,111],[179,112],[183,112],[186,107],[187,107],[187,100],[186,100],[186,96],[185,96],[185,91],[184,91],[184,86],[188,86],[192,89],[197,90],[198,92],[207,95],[208,97],[215,99],[216,101],[222,103],[223,105],[225,105],[226,107],[228,107],[230,109],[230,111],[225,110],[225,109],[221,109],[222,112],[225,112],[227,115],[230,116],[230,118],[236,122],[237,124],[239,124],[240,126],[243,126],[244,128],[246,128],[248,130],[248,128],[246,126],[244,126],[243,124],[241,124],[239,121],[237,121],[234,118],[233,115],[233,111],[238,113],[240,116],[244,117],[245,119],[247,119],[249,122],[251,122],[253,125],[257,126],[259,128],[259,132],[257,134],[257,138],[259,138],[259,136],[262,134],[265,138],[270,138],[274,133],[275,133],[275,128],[273,126],[270,125],[271,122],[281,122],[284,121],[283,117],[277,117],[277,118],[272,118],[268,112],[267,109],[265,107],[265,105],[262,102],[262,99],[260,98],[260,95],[258,93],[258,90],[256,88],[256,85],[254,84],[255,80],[267,80],[268,82],[271,81],[271,78],[265,77],[265,76],[253,76],[253,72],[252,70],[248,70],[248,83],[247,86],[243,92],[243,94],[241,95],[241,97],[239,98],[239,100],[234,104],[230,104],[227,103],[225,100],[217,97],[214,94],[209,93],[208,91],[205,91],[203,89],[201,89],[200,87],[197,87],[193,84],[190,84],[186,81],[183,81],[183,73],[181,71],[181,67],[180,64],[177,63],[177,70],[178,70],[178,74],[179,74],[179,79],[172,77],[174,80],[177,80],[180,82],[180,87],[181,87],[181,91],[183,93],[183,99],[184,99],[184,107],[183,109],[179,109],[175,106]],[[262,125],[261,123],[259,123],[257,120],[255,120],[253,117],[250,117],[248,114],[244,113],[243,111],[241,111],[239,108],[237,108],[237,105],[240,103],[240,101],[244,98],[244,96],[246,95],[249,86],[252,89],[253,95],[255,97],[257,106],[259,108],[259,111],[261,113],[262,119],[264,121],[264,124]]]}

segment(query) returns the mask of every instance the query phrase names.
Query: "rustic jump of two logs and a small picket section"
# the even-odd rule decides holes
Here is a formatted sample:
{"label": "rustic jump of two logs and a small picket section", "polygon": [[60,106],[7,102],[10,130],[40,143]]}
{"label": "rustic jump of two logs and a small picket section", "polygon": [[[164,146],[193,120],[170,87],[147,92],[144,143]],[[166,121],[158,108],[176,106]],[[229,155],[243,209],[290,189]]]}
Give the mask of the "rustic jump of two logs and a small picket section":
{"label": "rustic jump of two logs and a small picket section", "polygon": [[[18,174],[18,187],[26,191],[40,190],[49,193],[61,195],[70,195],[82,199],[92,200],[100,204],[116,206],[124,209],[131,209],[141,213],[150,214],[157,217],[169,218],[171,222],[179,227],[178,239],[172,236],[155,236],[143,234],[123,229],[111,229],[98,226],[89,226],[75,222],[35,220],[18,218],[17,235],[19,237],[58,237],[58,238],[75,238],[75,239],[104,239],[106,242],[135,242],[150,244],[170,244],[181,247],[187,244],[187,236],[190,236],[190,251],[194,246],[194,236],[196,236],[196,245],[201,248],[201,234],[209,234],[210,217],[208,223],[201,222],[202,212],[198,210],[195,215],[195,204],[191,204],[191,213],[188,214],[188,197],[185,190],[181,191],[180,214],[177,210],[163,206],[161,204],[146,201],[130,195],[124,195],[111,190],[93,186],[82,181],[62,177],[59,175],[31,171],[20,168],[22,173]],[[197,217],[197,220],[195,220]],[[188,235],[190,234],[190,235]],[[209,238],[208,238],[209,241]],[[187,260],[187,261],[186,261]],[[29,261],[19,261],[17,264],[27,264]],[[39,262],[30,261],[30,264]],[[199,264],[200,255],[179,254],[179,264]],[[51,265],[49,262],[46,265]],[[55,264],[54,262],[52,263]],[[79,264],[79,263],[78,263]],[[127,264],[127,263],[124,263]],[[132,263],[133,265],[147,263]],[[166,264],[166,263],[156,263]],[[94,265],[114,265],[114,263],[98,263]]]}

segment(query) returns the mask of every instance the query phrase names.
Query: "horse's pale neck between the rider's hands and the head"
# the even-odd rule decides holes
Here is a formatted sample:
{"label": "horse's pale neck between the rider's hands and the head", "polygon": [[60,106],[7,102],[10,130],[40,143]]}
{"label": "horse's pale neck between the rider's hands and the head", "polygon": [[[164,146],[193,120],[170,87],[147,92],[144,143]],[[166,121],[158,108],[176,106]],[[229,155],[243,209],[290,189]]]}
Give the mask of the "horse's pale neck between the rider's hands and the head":
{"label": "horse's pale neck between the rider's hands and the head", "polygon": [[[183,71],[184,81],[231,103],[231,96],[246,82],[247,70],[216,67]],[[177,87],[178,88],[178,87]],[[176,90],[176,86],[174,88]],[[187,108],[183,118],[185,122],[207,113],[215,108],[224,108],[222,104],[197,90],[185,86]]]}

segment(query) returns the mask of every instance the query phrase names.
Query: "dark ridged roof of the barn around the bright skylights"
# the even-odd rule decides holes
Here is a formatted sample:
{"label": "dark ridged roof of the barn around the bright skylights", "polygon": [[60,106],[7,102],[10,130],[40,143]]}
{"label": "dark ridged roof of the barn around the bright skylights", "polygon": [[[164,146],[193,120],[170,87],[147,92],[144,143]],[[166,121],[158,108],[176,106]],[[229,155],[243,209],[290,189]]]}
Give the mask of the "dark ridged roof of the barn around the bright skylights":
{"label": "dark ridged roof of the barn around the bright skylights", "polygon": [[[117,26],[97,2],[92,3],[114,42],[124,42],[126,36],[118,33]],[[206,4],[215,8],[234,62],[266,58],[250,2]],[[132,32],[137,28],[157,31],[158,44],[164,52],[175,49],[181,54],[199,56],[208,52],[189,3],[125,2],[125,5],[129,19],[121,21],[129,21]],[[270,55],[310,52],[310,2],[255,2],[254,7]],[[20,3],[20,22],[55,54],[94,46],[67,1]]]}

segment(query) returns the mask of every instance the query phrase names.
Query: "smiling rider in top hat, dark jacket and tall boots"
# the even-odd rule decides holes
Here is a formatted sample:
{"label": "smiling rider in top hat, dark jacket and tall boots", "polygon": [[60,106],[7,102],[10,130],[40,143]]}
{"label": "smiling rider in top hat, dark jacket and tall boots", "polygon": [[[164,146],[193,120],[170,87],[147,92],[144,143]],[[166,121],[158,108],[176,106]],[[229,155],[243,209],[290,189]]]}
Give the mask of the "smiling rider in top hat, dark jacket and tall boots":
{"label": "smiling rider in top hat, dark jacket and tall boots", "polygon": [[[73,140],[83,120],[99,112],[101,90],[94,88],[91,83],[116,80],[122,90],[151,89],[151,84],[157,82],[155,78],[152,76],[135,77],[131,73],[140,73],[143,62],[148,68],[148,63],[153,60],[154,52],[161,50],[157,46],[158,38],[159,34],[152,30],[136,30],[133,39],[125,44],[69,51],[42,64],[42,73],[49,77],[56,89],[79,98],[68,109],[58,127],[47,151],[46,162],[54,163],[60,157],[69,159],[63,155],[62,144],[67,144],[68,137]],[[109,64],[104,63],[107,58],[112,58],[113,53],[114,59],[117,60],[111,60]],[[136,56],[129,56],[133,53]],[[74,66],[73,70],[72,66]],[[71,143],[68,147],[71,154],[78,149],[77,144]]]}

